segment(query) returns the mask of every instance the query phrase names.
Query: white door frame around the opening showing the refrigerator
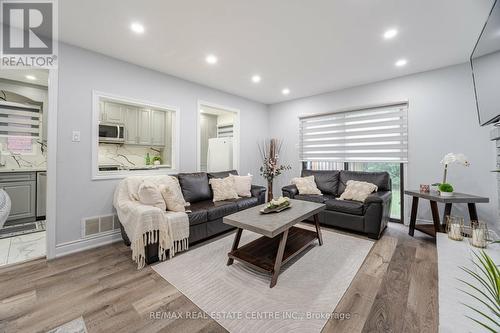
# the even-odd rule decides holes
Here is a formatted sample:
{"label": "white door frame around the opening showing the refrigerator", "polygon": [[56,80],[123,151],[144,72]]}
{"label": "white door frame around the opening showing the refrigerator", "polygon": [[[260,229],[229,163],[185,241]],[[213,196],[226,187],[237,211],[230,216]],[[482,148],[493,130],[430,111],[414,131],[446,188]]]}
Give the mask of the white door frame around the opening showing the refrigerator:
{"label": "white door frame around the opening showing the refrigerator", "polygon": [[[212,107],[215,109],[220,109],[223,111],[233,112],[236,114],[234,125],[233,125],[233,169],[239,172],[240,169],[240,110],[236,108],[232,108],[230,106],[225,106],[221,104],[216,104],[212,102],[207,102],[204,100],[198,99],[197,108],[196,108],[196,170],[201,171],[200,163],[201,163],[201,106],[205,105],[208,107]],[[234,135],[234,133],[236,134]],[[235,142],[236,141],[236,142]],[[236,143],[236,144],[235,144]],[[236,147],[236,149],[234,149]]]}

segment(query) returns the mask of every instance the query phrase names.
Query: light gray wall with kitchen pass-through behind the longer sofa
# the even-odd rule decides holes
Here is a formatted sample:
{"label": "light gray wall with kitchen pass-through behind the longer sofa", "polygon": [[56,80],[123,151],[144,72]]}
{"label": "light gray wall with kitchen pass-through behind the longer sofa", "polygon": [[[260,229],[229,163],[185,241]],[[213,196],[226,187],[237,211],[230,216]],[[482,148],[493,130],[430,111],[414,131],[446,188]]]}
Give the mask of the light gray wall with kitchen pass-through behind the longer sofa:
{"label": "light gray wall with kitchen pass-through behind the longer sofa", "polygon": [[[240,172],[262,183],[257,142],[268,136],[264,104],[65,44],[59,55],[56,244],[80,239],[82,218],[113,212],[118,180],[91,180],[92,89],[178,107],[184,172],[197,169],[198,99],[239,109]],[[73,130],[81,131],[81,142],[71,142]]]}

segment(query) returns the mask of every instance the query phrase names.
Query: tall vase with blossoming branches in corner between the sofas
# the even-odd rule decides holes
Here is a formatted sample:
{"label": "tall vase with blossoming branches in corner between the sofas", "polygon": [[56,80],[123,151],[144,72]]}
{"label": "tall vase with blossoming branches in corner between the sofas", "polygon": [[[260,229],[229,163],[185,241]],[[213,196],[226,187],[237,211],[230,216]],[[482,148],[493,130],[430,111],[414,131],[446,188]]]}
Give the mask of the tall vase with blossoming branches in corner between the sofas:
{"label": "tall vase with blossoming branches in corner between the sofas", "polygon": [[285,170],[290,170],[290,165],[279,164],[279,156],[281,148],[283,147],[283,140],[270,139],[264,143],[259,144],[259,152],[262,157],[262,166],[260,167],[260,174],[267,180],[267,201],[273,199],[273,182],[274,178],[278,177]]}

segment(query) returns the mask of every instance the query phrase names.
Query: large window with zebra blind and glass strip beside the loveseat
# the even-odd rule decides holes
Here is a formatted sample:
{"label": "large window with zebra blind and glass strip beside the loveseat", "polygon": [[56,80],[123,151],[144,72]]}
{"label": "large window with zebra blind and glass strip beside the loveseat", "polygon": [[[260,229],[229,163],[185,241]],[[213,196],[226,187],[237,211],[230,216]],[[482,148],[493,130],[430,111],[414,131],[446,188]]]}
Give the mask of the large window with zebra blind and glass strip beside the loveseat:
{"label": "large window with zebra blind and glass strip beside the loveseat", "polygon": [[299,152],[304,169],[388,172],[391,220],[403,222],[407,103],[301,117]]}

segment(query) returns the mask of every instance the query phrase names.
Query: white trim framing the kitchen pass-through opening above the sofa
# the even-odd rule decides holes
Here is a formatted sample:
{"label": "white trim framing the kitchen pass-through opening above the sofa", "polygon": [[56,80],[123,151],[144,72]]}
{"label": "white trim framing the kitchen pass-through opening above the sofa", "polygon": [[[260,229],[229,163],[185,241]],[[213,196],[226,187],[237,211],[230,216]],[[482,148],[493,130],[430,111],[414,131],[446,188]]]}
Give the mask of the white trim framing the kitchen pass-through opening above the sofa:
{"label": "white trim framing the kitchen pass-through opening above the sofa", "polygon": [[[140,107],[150,107],[175,112],[175,125],[173,128],[174,134],[172,137],[172,167],[160,168],[155,170],[119,170],[107,171],[106,173],[99,171],[98,154],[99,154],[99,100],[105,98],[117,103],[130,104]],[[98,90],[92,90],[92,180],[104,179],[122,179],[130,176],[152,176],[178,173],[180,161],[180,109],[176,106],[157,104],[154,102],[123,97],[119,95],[109,94]]]}

